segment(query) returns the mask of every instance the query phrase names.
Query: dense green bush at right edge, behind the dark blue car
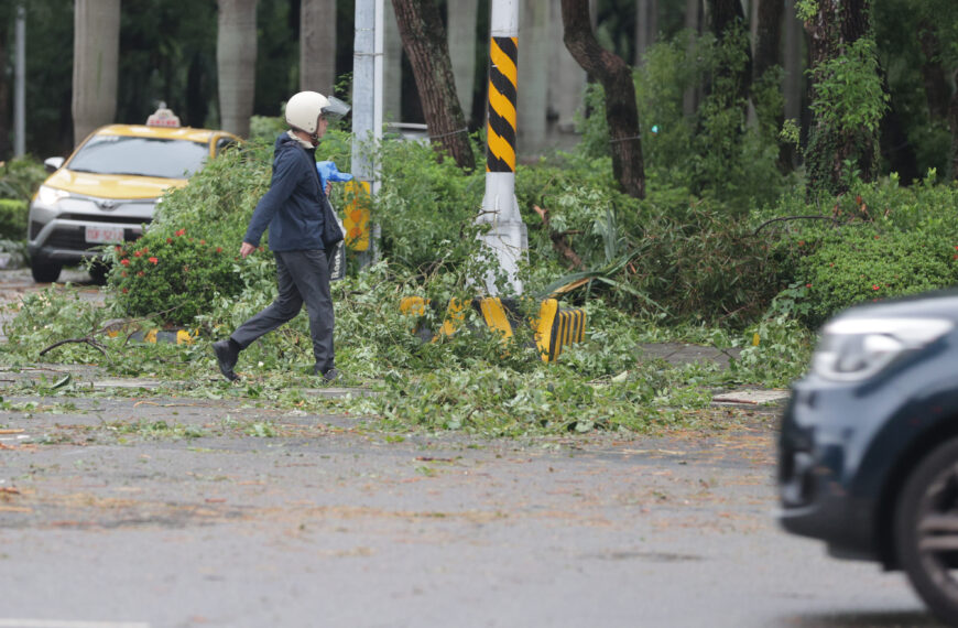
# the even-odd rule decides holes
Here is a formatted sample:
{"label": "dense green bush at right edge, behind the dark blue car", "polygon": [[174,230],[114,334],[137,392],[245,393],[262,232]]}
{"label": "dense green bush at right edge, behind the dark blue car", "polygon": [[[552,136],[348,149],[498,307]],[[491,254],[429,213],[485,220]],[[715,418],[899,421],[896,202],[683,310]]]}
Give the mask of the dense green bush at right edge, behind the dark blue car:
{"label": "dense green bush at right edge, behind the dark blue car", "polygon": [[[934,180],[859,184],[815,208],[796,194],[756,216],[779,279],[791,284],[773,308],[814,327],[856,303],[958,283],[958,186]],[[803,215],[825,219],[770,223]]]}

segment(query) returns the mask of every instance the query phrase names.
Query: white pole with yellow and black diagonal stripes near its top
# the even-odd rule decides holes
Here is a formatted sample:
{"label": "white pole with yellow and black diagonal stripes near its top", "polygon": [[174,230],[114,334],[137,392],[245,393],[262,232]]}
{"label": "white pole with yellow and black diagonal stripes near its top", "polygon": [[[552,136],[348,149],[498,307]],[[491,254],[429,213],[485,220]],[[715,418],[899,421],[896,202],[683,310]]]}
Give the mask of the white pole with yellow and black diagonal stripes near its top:
{"label": "white pole with yellow and black diagonal stripes near its top", "polygon": [[522,294],[519,259],[529,249],[525,225],[515,202],[515,119],[519,95],[519,0],[492,0],[489,41],[489,105],[486,147],[486,195],[478,223],[491,223],[482,240],[491,249],[508,286],[486,275],[486,291]]}

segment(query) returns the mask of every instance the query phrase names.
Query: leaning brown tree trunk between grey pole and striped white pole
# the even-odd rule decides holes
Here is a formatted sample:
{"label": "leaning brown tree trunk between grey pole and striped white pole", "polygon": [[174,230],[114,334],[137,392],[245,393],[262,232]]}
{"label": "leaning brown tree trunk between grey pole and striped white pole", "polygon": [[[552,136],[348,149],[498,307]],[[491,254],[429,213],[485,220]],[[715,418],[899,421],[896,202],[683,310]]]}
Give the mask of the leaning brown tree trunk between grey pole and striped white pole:
{"label": "leaning brown tree trunk between grey pole and striped white pole", "polygon": [[392,0],[403,48],[410,58],[429,137],[456,164],[476,167],[466,118],[456,95],[456,80],[446,29],[434,0]]}

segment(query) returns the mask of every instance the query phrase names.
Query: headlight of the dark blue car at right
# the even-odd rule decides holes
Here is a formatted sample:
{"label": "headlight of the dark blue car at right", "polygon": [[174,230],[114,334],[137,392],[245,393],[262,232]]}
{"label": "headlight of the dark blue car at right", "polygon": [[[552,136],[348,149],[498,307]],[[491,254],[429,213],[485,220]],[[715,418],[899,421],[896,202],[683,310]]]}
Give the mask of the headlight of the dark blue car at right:
{"label": "headlight of the dark blue car at right", "polygon": [[951,331],[940,318],[842,318],[825,326],[812,370],[838,381],[872,377],[899,356]]}

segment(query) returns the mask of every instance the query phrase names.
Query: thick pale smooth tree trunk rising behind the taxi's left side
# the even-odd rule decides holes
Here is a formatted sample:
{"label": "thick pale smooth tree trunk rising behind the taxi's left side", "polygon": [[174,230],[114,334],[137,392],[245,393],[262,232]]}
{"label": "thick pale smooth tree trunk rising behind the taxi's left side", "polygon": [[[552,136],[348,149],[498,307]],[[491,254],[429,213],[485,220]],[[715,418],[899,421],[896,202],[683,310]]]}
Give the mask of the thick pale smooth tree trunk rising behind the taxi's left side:
{"label": "thick pale smooth tree trunk rising behind the taxi's left side", "polygon": [[120,58],[120,0],[76,0],[74,9],[74,144],[115,122]]}

